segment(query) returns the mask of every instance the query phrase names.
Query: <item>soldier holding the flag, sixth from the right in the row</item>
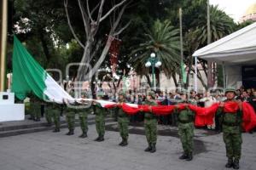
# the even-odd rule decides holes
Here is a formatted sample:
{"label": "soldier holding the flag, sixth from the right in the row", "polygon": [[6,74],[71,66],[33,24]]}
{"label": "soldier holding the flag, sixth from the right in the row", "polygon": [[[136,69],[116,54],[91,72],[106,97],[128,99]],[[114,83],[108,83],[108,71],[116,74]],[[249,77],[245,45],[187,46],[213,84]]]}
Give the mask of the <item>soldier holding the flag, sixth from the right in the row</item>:
{"label": "soldier holding the flag, sixth from the right in the row", "polygon": [[[88,98],[87,94],[82,94],[81,95],[82,99]],[[82,105],[85,105],[81,109],[79,109],[79,121],[80,121],[80,127],[82,130],[82,134],[79,136],[79,138],[87,138],[87,131],[88,131],[88,122],[87,122],[87,117],[88,114],[90,113],[90,106],[89,103],[85,103],[85,101],[82,100]]]}

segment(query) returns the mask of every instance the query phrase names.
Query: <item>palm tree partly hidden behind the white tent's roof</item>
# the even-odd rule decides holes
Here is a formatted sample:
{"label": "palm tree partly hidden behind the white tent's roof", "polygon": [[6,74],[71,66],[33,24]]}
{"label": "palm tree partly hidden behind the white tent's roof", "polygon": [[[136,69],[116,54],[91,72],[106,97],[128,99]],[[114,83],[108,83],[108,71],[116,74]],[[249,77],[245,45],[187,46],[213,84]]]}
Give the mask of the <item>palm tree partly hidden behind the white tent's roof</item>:
{"label": "palm tree partly hidden behind the white tent's roof", "polygon": [[[189,42],[189,44],[186,44],[190,56],[186,63],[189,63],[189,65],[192,65],[193,63],[191,54],[193,54],[196,49],[207,45],[207,3],[202,2],[202,5],[205,6],[205,11],[201,11],[198,18],[192,22],[191,27],[185,36],[185,42]],[[229,35],[235,31],[235,28],[236,24],[230,16],[220,10],[218,6],[210,6],[211,42],[215,42],[218,39]],[[207,62],[201,59],[200,62],[207,75]],[[193,68],[191,69],[193,70]],[[207,88],[207,84],[203,81],[201,74],[198,74],[198,78],[201,80],[203,86]]]}

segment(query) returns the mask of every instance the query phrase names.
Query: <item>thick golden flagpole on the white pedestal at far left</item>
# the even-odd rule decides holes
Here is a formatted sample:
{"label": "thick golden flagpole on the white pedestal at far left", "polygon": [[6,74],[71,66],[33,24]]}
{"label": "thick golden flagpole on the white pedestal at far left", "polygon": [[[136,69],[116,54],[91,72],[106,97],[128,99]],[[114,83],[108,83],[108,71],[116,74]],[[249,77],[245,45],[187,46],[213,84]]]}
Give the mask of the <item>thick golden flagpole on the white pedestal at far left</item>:
{"label": "thick golden flagpole on the white pedestal at far left", "polygon": [[6,80],[6,44],[7,44],[7,20],[8,20],[8,0],[1,1],[1,46],[0,46],[0,91],[4,91]]}

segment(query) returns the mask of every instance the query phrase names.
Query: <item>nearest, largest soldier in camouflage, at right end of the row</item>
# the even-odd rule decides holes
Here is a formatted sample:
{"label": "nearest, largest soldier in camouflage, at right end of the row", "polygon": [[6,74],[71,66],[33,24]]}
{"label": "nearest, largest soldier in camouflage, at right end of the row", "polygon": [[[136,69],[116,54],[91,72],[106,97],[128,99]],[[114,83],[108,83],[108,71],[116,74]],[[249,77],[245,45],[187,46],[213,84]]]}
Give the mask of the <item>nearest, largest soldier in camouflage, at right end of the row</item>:
{"label": "nearest, largest soldier in camouflage, at right end of the row", "polygon": [[[242,112],[241,112],[241,101],[235,100],[236,89],[226,88],[225,96],[226,100],[221,102],[218,108],[216,116],[221,116],[222,129],[223,129],[223,139],[226,146],[226,156],[228,157],[228,162],[225,167],[233,167],[234,169],[239,169],[239,160],[241,158],[241,122],[242,122]],[[224,112],[224,105],[228,102],[237,102],[239,109],[236,113]]]}

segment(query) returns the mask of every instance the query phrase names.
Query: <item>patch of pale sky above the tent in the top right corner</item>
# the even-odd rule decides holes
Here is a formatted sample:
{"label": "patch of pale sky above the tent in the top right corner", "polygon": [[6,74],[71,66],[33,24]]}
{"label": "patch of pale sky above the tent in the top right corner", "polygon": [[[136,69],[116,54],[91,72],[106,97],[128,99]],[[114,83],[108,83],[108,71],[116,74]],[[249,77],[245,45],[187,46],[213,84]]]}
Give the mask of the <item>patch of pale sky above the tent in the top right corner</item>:
{"label": "patch of pale sky above the tent in the top right corner", "polygon": [[236,22],[245,14],[247,8],[256,3],[256,0],[210,0],[210,3],[217,5],[226,14],[229,14]]}

